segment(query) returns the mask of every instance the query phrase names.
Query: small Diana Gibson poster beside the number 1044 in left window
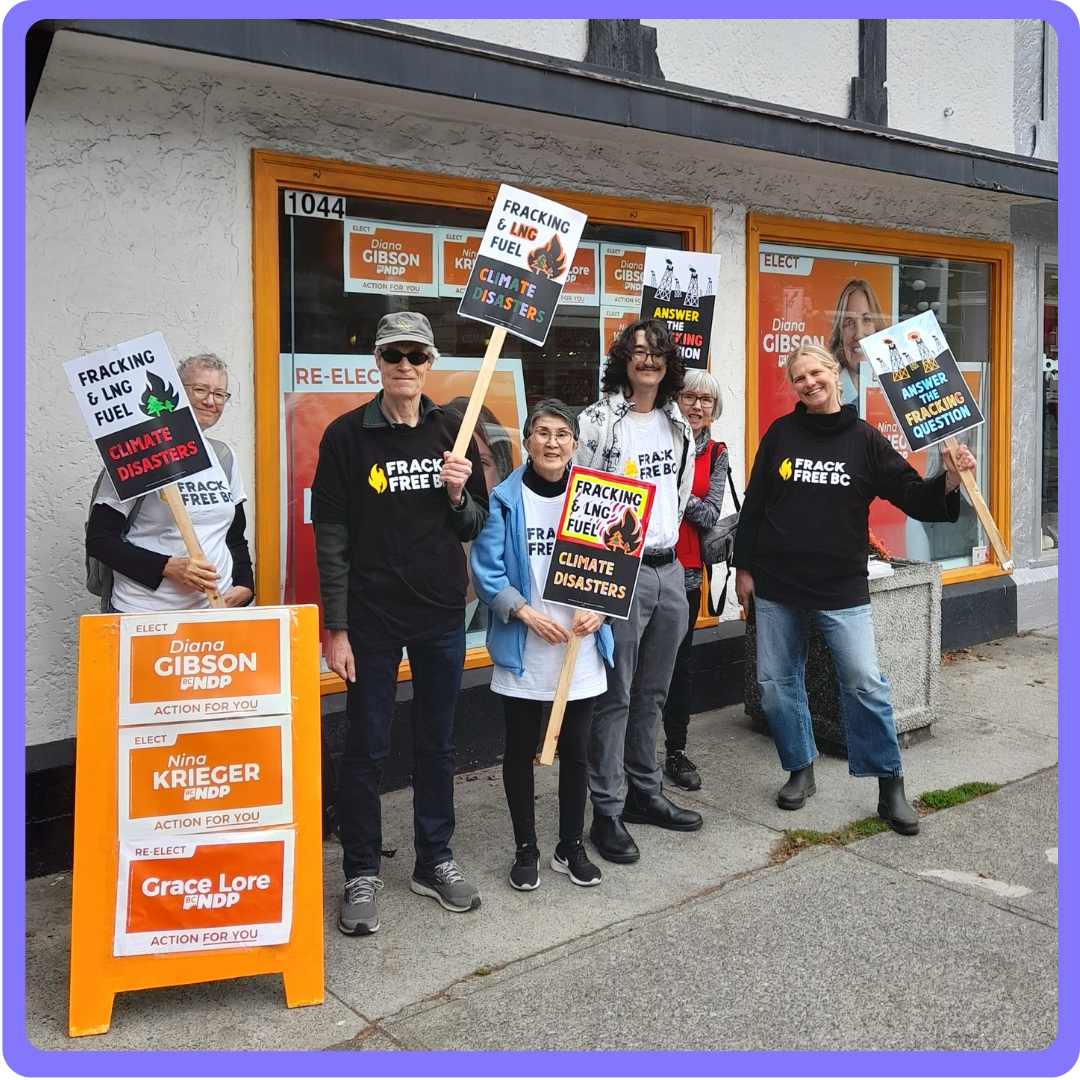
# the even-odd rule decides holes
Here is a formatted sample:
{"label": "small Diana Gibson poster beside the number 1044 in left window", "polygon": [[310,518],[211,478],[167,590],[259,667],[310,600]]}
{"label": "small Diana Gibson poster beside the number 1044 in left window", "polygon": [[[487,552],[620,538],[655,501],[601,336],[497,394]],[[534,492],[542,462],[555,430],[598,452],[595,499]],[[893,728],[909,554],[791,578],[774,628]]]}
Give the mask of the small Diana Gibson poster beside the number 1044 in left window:
{"label": "small Diana Gibson poster beside the number 1044 in left window", "polygon": [[438,296],[435,231],[345,219],[345,291]]}

